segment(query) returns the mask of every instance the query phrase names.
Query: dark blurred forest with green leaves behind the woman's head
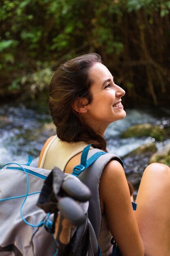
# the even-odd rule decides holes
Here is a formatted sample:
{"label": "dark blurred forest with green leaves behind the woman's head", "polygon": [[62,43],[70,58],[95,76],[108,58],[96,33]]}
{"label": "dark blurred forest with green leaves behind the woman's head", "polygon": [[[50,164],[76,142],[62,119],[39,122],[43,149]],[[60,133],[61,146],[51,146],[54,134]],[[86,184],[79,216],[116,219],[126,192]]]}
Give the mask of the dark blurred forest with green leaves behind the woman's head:
{"label": "dark blurred forest with green leaves behind the woman's head", "polygon": [[170,102],[170,1],[1,0],[0,100],[47,99],[53,71],[97,52],[126,105]]}

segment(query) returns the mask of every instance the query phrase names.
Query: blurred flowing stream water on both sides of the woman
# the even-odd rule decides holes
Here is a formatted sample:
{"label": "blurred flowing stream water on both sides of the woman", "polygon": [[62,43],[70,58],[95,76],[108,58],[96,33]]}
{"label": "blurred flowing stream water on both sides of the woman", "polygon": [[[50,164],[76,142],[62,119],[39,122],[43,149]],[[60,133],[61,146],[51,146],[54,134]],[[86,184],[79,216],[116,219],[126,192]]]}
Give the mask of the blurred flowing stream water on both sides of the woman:
{"label": "blurred flowing stream water on both sides of the woman", "polygon": [[[121,139],[121,132],[128,127],[147,122],[162,128],[170,124],[170,110],[166,108],[127,109],[126,113],[126,118],[110,124],[105,133],[108,151],[120,157],[124,157],[142,144],[155,141],[152,137]],[[28,155],[31,155],[34,159],[31,165],[37,166],[44,142],[55,134],[54,129],[48,125],[50,122],[51,117],[47,108],[29,109],[23,104],[1,106],[0,165],[11,161],[24,164]],[[161,148],[169,141],[170,139],[165,139],[156,142],[157,148]],[[147,156],[124,159],[124,168],[131,182],[139,183],[141,173],[147,164]]]}

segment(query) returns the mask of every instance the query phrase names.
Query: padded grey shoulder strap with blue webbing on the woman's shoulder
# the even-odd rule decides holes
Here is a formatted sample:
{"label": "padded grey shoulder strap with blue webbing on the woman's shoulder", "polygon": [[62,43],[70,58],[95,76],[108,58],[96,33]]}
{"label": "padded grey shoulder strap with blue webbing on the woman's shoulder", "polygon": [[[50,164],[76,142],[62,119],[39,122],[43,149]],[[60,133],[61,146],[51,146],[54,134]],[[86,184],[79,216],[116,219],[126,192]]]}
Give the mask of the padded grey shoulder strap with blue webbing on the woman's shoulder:
{"label": "padded grey shoulder strap with blue webbing on the woman's shoulder", "polygon": [[123,162],[117,155],[106,153],[97,148],[89,150],[90,146],[91,145],[88,145],[84,148],[81,163],[73,168],[73,175],[84,182],[93,195],[89,200],[88,218],[91,221],[98,239],[102,227],[102,214],[99,198],[100,177],[104,167],[110,160],[117,160],[122,166]]}

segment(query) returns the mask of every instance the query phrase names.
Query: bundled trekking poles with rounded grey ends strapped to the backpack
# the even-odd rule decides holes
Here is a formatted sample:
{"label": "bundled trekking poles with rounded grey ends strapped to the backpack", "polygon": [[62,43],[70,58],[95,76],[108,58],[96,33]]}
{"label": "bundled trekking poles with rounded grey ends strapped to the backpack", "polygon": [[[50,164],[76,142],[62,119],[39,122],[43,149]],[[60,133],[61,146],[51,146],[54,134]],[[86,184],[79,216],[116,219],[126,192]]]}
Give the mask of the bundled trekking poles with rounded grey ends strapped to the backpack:
{"label": "bundled trekking poles with rounded grey ends strapped to the backpack", "polygon": [[[57,256],[69,255],[69,243],[74,232],[76,234],[77,227],[78,230],[81,227],[78,234],[83,232],[90,197],[91,191],[84,183],[72,175],[64,175],[57,167],[47,177],[37,205],[46,212],[55,213],[57,217],[53,222]],[[53,233],[53,228],[47,231]],[[74,248],[77,248],[77,242],[74,243]]]}

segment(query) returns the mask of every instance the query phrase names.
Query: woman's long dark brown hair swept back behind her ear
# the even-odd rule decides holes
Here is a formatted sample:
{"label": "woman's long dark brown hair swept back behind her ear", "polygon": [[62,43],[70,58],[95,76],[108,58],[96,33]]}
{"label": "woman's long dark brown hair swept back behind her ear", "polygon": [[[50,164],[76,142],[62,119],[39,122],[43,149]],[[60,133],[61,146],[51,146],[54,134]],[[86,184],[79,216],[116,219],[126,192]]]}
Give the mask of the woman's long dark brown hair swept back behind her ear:
{"label": "woman's long dark brown hair swept back behind her ear", "polygon": [[[85,124],[72,107],[77,98],[86,98],[87,104],[93,100],[90,92],[90,69],[95,63],[102,63],[101,57],[99,54],[89,53],[60,65],[49,86],[49,108],[59,139],[67,142],[84,141],[107,151],[103,135]],[[129,187],[132,193],[130,184]]]}

